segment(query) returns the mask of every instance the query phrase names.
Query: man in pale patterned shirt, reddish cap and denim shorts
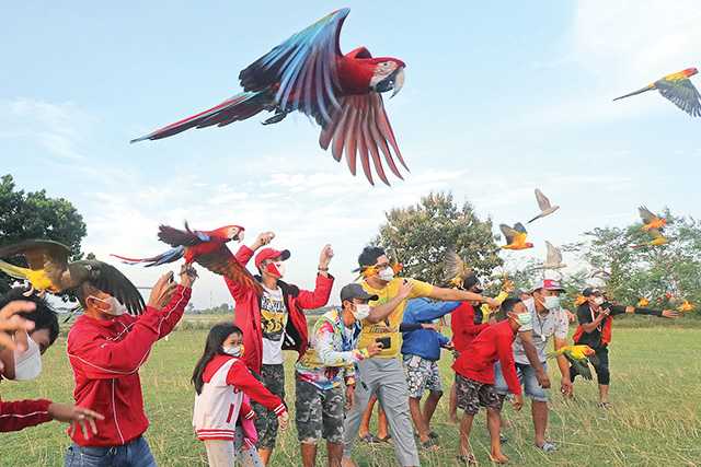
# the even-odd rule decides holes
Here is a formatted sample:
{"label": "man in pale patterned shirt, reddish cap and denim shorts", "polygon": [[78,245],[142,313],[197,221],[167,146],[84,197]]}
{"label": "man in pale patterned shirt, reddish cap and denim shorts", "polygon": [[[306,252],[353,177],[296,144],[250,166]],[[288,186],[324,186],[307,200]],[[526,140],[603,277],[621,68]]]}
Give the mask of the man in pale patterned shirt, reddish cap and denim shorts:
{"label": "man in pale patterned shirt, reddish cap and denim shorts", "polygon": [[[560,282],[552,279],[544,279],[530,293],[530,296],[522,294],[521,300],[531,315],[530,325],[524,326],[520,330],[530,330],[532,343],[537,350],[537,361],[528,359],[521,337],[514,340],[514,361],[516,362],[516,373],[520,384],[524,386],[526,395],[531,399],[531,413],[533,418],[533,429],[536,432],[535,444],[545,453],[556,450],[556,446],[545,440],[548,429],[548,394],[540,385],[538,374],[547,374],[545,347],[548,340],[553,336],[555,350],[567,345],[568,320],[567,315],[560,306],[560,293],[564,289]],[[533,363],[532,363],[533,362]],[[497,364],[498,365],[498,364]],[[561,390],[568,394],[572,390],[570,381],[570,364],[564,357],[558,358],[560,367]],[[495,388],[498,394],[506,395],[508,387],[501,371],[496,371]]]}

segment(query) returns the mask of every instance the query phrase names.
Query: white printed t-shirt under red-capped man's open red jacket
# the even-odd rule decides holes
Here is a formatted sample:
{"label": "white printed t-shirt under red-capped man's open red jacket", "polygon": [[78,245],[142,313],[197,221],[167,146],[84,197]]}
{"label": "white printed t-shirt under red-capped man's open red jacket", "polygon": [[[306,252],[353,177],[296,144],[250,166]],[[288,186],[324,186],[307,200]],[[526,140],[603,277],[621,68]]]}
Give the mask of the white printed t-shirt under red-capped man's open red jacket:
{"label": "white printed t-shirt under red-capped man's open red jacket", "polygon": [[283,337],[287,326],[287,307],[283,290],[263,285],[261,297],[261,329],[263,331],[263,364],[283,363]]}

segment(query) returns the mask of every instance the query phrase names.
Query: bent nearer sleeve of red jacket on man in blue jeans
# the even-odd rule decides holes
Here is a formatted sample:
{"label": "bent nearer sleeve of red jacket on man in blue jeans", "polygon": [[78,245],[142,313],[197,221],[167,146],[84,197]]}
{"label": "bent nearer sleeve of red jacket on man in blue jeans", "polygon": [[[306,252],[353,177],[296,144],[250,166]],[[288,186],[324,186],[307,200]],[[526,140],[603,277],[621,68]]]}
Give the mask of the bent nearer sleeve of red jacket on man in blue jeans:
{"label": "bent nearer sleeve of red jacket on man in blue jeans", "polygon": [[161,312],[147,306],[120,341],[97,338],[73,327],[68,335],[70,363],[90,380],[111,380],[136,373],[158,340],[162,320]]}

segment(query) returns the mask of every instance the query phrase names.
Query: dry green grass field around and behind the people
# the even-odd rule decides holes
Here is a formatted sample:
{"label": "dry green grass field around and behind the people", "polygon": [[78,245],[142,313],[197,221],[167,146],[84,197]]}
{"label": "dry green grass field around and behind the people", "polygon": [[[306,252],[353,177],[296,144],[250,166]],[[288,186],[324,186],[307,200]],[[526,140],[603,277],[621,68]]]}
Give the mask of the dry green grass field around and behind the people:
{"label": "dry green grass field around and behind the people", "polygon": [[[204,447],[193,436],[191,427],[194,392],[188,381],[206,336],[206,330],[185,323],[170,340],[159,342],[141,370],[146,410],[151,421],[147,439],[161,466],[206,465]],[[44,372],[37,382],[2,383],[2,398],[72,400],[72,374],[65,346],[61,337],[47,352]],[[512,465],[519,466],[701,465],[700,355],[701,329],[618,327],[610,354],[613,409],[597,409],[594,383],[579,380],[574,401],[565,402],[553,394],[549,433],[560,450],[545,455],[532,447],[528,402],[519,413],[506,408],[510,427],[505,430],[509,436],[505,453],[510,456]],[[294,358],[295,354],[288,352],[289,395],[294,395]],[[446,387],[452,380],[451,360],[447,354],[441,360]],[[294,407],[291,397],[288,405]],[[433,423],[440,435],[441,450],[422,454],[424,466],[458,465],[458,428],[446,421],[446,412],[447,400],[443,400]],[[3,433],[0,465],[62,465],[69,444],[64,428],[51,422],[18,433]],[[299,465],[296,440],[292,424],[278,439],[273,465]],[[481,464],[490,465],[489,436],[482,415],[475,421],[472,445]],[[360,466],[395,465],[391,445],[363,445],[356,447],[354,455]]]}

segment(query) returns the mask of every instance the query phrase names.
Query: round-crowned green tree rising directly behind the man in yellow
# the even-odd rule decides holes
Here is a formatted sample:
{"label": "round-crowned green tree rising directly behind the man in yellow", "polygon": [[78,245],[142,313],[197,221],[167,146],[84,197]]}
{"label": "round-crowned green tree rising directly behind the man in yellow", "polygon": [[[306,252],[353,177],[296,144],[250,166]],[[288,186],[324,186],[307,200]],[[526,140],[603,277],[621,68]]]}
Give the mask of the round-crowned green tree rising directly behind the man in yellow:
{"label": "round-crowned green tree rising directly behind the man in yellow", "polygon": [[444,283],[444,260],[450,247],[480,276],[490,276],[503,264],[492,221],[481,220],[469,202],[458,206],[450,192],[430,192],[417,205],[395,208],[384,215],[387,222],[372,244],[395,257],[407,277]]}

